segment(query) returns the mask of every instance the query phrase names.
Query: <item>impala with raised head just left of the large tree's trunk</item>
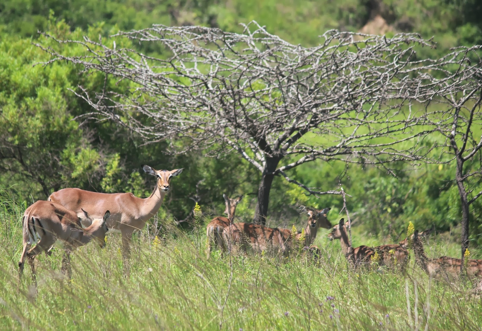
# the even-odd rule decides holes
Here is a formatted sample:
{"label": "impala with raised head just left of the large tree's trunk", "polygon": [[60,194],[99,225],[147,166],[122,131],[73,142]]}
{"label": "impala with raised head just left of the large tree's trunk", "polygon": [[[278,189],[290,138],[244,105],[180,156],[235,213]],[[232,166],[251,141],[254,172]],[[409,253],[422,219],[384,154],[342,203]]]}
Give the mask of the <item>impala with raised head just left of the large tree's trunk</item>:
{"label": "impala with raised head just left of the large tree's trunk", "polygon": [[236,212],[236,206],[238,206],[242,197],[243,195],[240,195],[240,196],[237,196],[236,198],[230,199],[226,194],[223,194],[223,198],[226,203],[226,210],[224,211],[224,213],[228,215],[228,218],[223,216],[218,216],[218,217],[215,217],[213,220],[211,220],[207,225],[206,255],[208,257],[209,257],[209,254],[216,247],[220,248],[223,251],[226,250],[226,248],[224,247],[224,241],[223,241],[223,230],[233,222],[234,213]]}

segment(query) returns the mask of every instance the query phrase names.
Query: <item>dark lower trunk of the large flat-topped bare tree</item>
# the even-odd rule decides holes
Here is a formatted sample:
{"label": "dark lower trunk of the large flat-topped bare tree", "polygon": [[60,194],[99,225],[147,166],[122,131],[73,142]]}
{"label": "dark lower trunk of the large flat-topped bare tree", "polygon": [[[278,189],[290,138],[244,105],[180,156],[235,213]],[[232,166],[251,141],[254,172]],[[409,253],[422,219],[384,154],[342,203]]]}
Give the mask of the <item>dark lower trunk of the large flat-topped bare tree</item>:
{"label": "dark lower trunk of the large flat-topped bare tree", "polygon": [[267,158],[266,165],[263,170],[263,177],[259,183],[258,188],[258,202],[256,203],[256,209],[254,211],[254,224],[266,224],[266,216],[268,215],[268,205],[269,205],[269,192],[271,191],[271,184],[274,179],[274,171],[278,166],[280,159],[278,158]]}

